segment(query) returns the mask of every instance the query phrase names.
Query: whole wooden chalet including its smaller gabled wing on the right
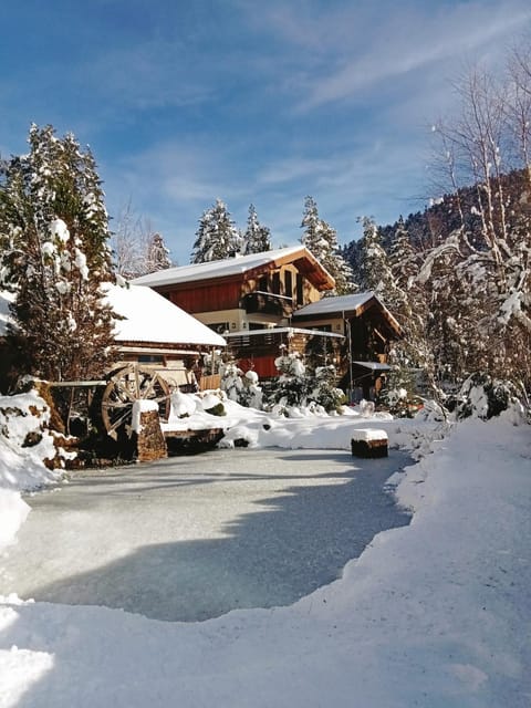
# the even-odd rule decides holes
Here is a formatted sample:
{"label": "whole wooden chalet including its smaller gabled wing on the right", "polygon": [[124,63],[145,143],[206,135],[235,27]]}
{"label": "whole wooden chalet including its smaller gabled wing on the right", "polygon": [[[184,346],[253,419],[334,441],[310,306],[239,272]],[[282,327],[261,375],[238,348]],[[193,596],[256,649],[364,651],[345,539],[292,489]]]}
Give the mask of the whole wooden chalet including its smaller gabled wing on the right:
{"label": "whole wooden chalet including its smaller gabled wing on the right", "polygon": [[314,364],[336,364],[342,385],[368,396],[388,368],[388,342],[400,333],[374,293],[323,298],[334,280],[303,246],[169,268],[134,283],[222,334],[240,367],[261,378],[277,375],[284,346]]}

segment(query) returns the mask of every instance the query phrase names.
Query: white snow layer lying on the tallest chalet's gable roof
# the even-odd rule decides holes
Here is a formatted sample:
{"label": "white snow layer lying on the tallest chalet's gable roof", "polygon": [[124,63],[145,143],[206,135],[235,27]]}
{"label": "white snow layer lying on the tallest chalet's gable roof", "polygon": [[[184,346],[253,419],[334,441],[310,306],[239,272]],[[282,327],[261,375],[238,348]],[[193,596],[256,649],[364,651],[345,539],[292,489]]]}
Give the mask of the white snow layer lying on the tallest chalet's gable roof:
{"label": "white snow layer lying on the tallest chalet's gable roof", "polygon": [[[264,251],[262,253],[250,253],[249,256],[235,256],[221,261],[209,261],[207,263],[194,263],[190,266],[179,266],[177,268],[167,268],[155,273],[140,275],[132,282],[135,285],[149,285],[157,288],[163,285],[175,285],[177,283],[188,283],[199,280],[209,280],[216,278],[227,278],[246,273],[256,268],[261,268],[279,259],[290,258],[299,253],[301,258],[314,257],[304,246],[292,246],[290,248],[280,248],[273,251]],[[323,269],[324,270],[324,269]],[[329,275],[332,278],[331,275]]]}

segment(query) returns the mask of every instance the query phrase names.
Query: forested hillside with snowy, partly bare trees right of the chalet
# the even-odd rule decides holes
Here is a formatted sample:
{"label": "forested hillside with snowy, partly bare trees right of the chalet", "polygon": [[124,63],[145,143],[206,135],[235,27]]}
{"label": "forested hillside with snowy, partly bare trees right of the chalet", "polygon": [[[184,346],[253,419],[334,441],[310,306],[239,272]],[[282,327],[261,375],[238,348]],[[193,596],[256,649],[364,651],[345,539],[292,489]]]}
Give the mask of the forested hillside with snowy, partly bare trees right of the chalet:
{"label": "forested hillside with snowy, partly bare trees right of the chalet", "polygon": [[516,50],[501,80],[473,70],[456,90],[460,113],[433,127],[444,196],[391,226],[362,219],[343,256],[404,327],[402,376],[420,367],[439,391],[470,375],[510,382],[529,403],[531,55]]}

